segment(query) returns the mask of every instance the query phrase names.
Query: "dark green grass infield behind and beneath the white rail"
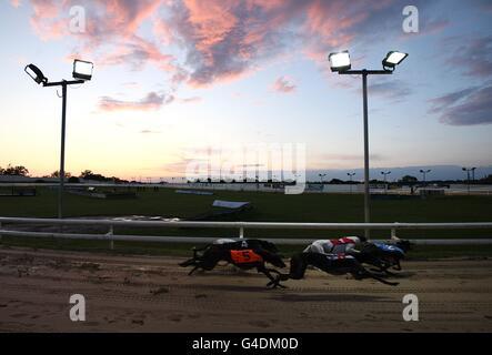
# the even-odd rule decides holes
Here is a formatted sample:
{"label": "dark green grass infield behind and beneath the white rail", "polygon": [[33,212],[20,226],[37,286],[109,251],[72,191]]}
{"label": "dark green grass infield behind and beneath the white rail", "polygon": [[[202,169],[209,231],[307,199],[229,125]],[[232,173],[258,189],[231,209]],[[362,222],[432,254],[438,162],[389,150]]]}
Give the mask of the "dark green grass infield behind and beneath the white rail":
{"label": "dark green grass infield behind and beneath the white rail", "polygon": [[[363,195],[350,194],[302,194],[257,192],[215,192],[214,195],[178,194],[173,189],[139,191],[135,200],[98,200],[86,196],[66,195],[68,216],[117,216],[160,215],[189,219],[211,211],[213,200],[249,201],[253,209],[241,215],[241,221],[268,222],[362,222]],[[38,189],[36,197],[0,197],[0,216],[54,217],[57,215],[57,190]],[[485,222],[492,221],[492,196],[439,196],[428,200],[378,200],[372,201],[373,222]],[[117,234],[150,235],[201,235],[237,236],[237,230],[212,229],[144,229],[122,230]],[[282,231],[247,230],[245,236],[254,237],[334,237],[361,234],[361,231]],[[389,231],[373,231],[372,237],[389,237]],[[402,237],[492,237],[490,230],[469,231],[401,231]],[[189,244],[124,243],[117,242],[116,251],[108,248],[108,242],[63,241],[46,239],[7,237],[3,247],[30,246],[39,248],[86,250],[110,253],[142,253],[189,255]],[[299,246],[282,246],[290,255]],[[491,256],[492,247],[476,246],[418,246],[413,257]]]}

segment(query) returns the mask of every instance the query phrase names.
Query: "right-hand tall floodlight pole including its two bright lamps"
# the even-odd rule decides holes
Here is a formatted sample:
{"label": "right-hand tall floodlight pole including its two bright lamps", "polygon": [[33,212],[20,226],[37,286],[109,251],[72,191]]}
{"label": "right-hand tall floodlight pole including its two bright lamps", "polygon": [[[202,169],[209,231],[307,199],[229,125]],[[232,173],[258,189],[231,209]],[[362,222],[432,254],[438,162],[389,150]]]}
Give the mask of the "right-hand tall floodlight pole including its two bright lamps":
{"label": "right-hand tall floodlight pole including its two bright lamps", "polygon": [[[383,70],[351,70],[350,55],[348,51],[331,53],[329,60],[331,70],[342,75],[362,75],[362,109],[364,120],[364,222],[371,221],[370,213],[370,189],[369,189],[369,119],[368,119],[368,77],[369,75],[391,75],[394,68],[400,64],[406,53],[391,51],[383,59]],[[370,239],[370,231],[364,231],[365,237]]]}

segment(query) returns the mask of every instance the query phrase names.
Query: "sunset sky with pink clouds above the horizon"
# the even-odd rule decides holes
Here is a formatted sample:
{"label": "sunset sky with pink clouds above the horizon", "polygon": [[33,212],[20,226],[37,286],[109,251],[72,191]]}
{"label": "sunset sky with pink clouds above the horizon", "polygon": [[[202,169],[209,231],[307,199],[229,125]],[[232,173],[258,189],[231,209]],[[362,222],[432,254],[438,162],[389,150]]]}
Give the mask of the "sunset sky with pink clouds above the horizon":
{"label": "sunset sky with pink clouds above the horizon", "polygon": [[361,168],[361,80],[327,60],[345,49],[355,69],[410,54],[370,78],[372,166],[491,165],[491,17],[479,0],[2,0],[0,166],[58,170],[61,99],[23,68],[71,79],[80,58],[94,74],[68,92],[73,174],[180,176],[211,150],[272,143],[304,144],[313,172]]}

